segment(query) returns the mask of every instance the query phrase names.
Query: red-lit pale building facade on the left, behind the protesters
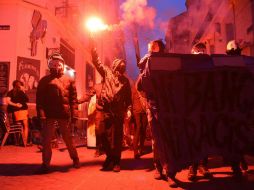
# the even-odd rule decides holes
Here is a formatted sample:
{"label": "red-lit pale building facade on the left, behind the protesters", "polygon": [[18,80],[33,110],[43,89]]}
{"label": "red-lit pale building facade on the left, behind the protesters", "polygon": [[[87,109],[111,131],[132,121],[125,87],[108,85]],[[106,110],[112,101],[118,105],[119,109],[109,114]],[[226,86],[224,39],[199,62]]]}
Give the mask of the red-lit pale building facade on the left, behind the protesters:
{"label": "red-lit pale building facade on the left, behind the protesters", "polygon": [[[91,65],[89,33],[84,21],[95,13],[104,16],[103,13],[110,12],[104,17],[114,18],[111,23],[118,22],[117,3],[112,1],[111,7],[101,11],[105,7],[103,3],[99,0],[0,1],[1,97],[12,88],[12,81],[22,80],[30,99],[30,113],[35,115],[38,81],[47,74],[47,57],[55,51],[65,58],[65,72],[75,78],[78,97],[99,81]],[[102,61],[109,60],[110,63],[115,57],[123,55],[124,49],[116,48],[119,40],[111,31],[95,38]],[[114,52],[114,49],[117,51]]]}

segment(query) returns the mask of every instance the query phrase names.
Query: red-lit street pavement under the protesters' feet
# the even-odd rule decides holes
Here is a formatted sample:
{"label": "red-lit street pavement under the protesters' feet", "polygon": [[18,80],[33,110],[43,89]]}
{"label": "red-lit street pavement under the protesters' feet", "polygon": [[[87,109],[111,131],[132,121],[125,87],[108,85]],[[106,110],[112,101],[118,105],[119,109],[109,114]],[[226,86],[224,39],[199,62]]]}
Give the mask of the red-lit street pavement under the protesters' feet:
{"label": "red-lit street pavement under the protesters' feet", "polygon": [[[94,158],[94,149],[77,148],[81,168],[72,168],[64,144],[53,149],[51,172],[40,174],[41,153],[36,145],[21,147],[6,145],[0,149],[0,190],[166,190],[165,180],[153,179],[152,153],[133,159],[131,150],[122,153],[121,172],[100,171],[105,155]],[[188,190],[254,190],[254,158],[246,156],[249,171],[242,180],[232,178],[231,169],[223,166],[220,157],[209,159],[214,175],[211,180],[201,177],[187,180],[188,170],[177,174],[180,187]]]}

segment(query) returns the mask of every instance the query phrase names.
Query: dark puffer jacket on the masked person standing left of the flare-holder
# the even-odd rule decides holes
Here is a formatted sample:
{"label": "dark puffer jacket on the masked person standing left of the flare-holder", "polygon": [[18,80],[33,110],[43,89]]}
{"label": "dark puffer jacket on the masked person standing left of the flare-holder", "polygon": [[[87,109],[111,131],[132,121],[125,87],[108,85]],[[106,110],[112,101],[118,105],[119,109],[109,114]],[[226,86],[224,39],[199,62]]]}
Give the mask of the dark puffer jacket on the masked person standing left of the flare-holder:
{"label": "dark puffer jacket on the masked person standing left of the flare-holder", "polygon": [[68,76],[60,78],[47,75],[38,84],[36,107],[39,117],[77,117],[77,91],[74,80]]}

